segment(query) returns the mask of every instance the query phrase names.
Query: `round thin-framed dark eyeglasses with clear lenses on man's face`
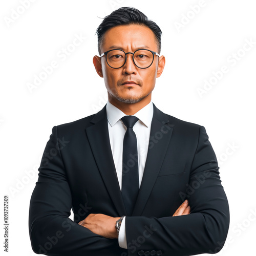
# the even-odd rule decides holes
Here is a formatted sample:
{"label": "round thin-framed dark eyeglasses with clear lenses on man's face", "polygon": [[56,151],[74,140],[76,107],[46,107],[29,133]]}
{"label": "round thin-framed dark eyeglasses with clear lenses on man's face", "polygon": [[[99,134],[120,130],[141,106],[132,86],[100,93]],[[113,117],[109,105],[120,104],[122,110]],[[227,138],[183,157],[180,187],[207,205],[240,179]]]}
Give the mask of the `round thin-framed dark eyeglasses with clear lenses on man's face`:
{"label": "round thin-framed dark eyeglasses with clear lenses on man's face", "polygon": [[151,50],[147,49],[139,49],[132,52],[124,52],[120,49],[114,49],[107,52],[103,52],[100,55],[100,58],[102,56],[106,56],[106,62],[112,69],[120,69],[124,66],[126,60],[127,60],[127,54],[133,54],[133,62],[136,67],[140,69],[147,69],[149,68],[153,61],[155,54],[159,57],[159,54],[157,52],[153,52]]}

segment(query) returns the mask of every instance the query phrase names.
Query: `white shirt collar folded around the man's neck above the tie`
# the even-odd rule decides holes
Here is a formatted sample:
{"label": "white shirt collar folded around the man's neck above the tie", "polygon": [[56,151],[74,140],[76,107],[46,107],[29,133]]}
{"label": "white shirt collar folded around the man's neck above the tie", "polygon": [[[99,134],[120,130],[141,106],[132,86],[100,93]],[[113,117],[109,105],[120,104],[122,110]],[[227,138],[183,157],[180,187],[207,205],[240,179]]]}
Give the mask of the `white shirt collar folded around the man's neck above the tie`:
{"label": "white shirt collar folded around the man's neck above the tie", "polygon": [[[134,116],[138,117],[140,121],[144,123],[144,125],[150,127],[153,118],[153,112],[153,102],[151,101],[145,105],[144,108],[135,113]],[[109,101],[106,103],[106,117],[108,118],[111,126],[115,125],[115,123],[119,121],[123,116],[126,115],[116,106],[111,104]]]}

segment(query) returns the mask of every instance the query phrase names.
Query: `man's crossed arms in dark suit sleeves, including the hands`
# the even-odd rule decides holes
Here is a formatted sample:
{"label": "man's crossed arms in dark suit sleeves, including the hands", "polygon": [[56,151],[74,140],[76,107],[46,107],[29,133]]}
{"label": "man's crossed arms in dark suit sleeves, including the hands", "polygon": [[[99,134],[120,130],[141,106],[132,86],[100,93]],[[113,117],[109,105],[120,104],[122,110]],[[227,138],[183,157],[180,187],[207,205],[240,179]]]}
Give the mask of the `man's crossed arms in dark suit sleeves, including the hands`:
{"label": "man's crossed arms in dark suit sleeves, including the hands", "polygon": [[[193,187],[194,183],[200,183],[198,177],[202,174],[205,179],[198,189],[186,195],[191,209],[183,211],[181,207],[176,216],[163,218],[126,217],[124,224],[128,250],[120,248],[116,239],[114,223],[118,217],[88,215],[88,219],[80,224],[69,219],[74,198],[60,145],[56,147],[57,144],[57,128],[54,127],[45,152],[56,148],[57,154],[47,164],[41,164],[31,197],[29,229],[32,248],[36,253],[53,256],[126,256],[138,255],[140,249],[159,248],[163,255],[194,255],[216,253],[224,245],[229,226],[228,203],[217,160],[203,127],[200,128],[189,185]],[[95,225],[98,221],[100,225]],[[148,236],[143,244],[139,244],[137,238],[143,236],[145,230]]]}

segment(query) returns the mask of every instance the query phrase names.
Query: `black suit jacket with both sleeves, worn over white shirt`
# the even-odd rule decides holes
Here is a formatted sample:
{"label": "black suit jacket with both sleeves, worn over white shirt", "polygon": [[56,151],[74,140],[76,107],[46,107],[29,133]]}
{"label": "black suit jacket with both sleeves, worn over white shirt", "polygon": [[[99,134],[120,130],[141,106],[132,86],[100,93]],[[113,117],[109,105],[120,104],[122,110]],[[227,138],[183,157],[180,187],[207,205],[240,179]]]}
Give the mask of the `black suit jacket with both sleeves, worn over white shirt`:
{"label": "black suit jacket with both sleeves, worn over white shirt", "polygon": [[[218,163],[203,126],[154,105],[144,175],[127,216],[111,153],[104,108],[54,126],[32,194],[32,248],[47,255],[193,255],[216,253],[229,226]],[[188,199],[190,215],[172,217]],[[69,219],[70,210],[74,221]],[[128,249],[77,223],[89,214],[127,216]]]}

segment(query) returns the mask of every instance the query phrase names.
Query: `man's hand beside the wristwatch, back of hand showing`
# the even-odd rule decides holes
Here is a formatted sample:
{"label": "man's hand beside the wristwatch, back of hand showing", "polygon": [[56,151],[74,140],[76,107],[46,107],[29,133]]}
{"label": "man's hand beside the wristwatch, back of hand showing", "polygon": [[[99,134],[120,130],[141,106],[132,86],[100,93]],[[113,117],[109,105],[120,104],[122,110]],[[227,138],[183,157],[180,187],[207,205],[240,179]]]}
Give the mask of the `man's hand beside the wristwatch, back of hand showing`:
{"label": "man's hand beside the wristwatch, back of hand showing", "polygon": [[104,238],[118,238],[116,222],[119,218],[113,218],[104,214],[90,214],[86,219],[78,224],[90,229],[93,233]]}

